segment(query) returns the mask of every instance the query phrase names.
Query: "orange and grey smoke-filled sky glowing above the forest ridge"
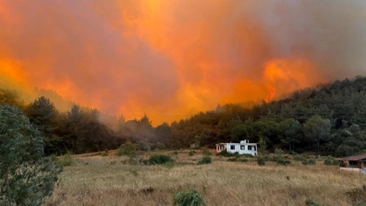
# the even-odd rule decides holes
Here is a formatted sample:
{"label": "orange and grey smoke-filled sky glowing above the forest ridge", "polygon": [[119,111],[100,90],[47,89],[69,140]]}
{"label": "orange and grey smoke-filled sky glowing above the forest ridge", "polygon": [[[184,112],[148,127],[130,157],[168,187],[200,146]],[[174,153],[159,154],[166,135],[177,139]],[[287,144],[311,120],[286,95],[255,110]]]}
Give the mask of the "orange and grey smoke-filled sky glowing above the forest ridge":
{"label": "orange and grey smoke-filled sky glowing above the forest ridge", "polygon": [[[364,1],[0,0],[0,86],[158,125],[365,75]],[[60,110],[66,110],[63,107]]]}

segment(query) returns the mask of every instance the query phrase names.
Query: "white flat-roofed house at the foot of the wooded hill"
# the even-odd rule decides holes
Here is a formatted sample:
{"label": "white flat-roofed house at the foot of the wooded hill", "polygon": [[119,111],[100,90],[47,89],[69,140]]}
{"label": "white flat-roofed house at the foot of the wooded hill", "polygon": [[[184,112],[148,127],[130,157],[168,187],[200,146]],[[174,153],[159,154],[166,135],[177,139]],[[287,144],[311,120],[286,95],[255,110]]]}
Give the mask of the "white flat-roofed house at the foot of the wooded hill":
{"label": "white flat-roofed house at the foot of the wooded hill", "polygon": [[240,143],[216,144],[217,153],[227,151],[229,153],[238,152],[239,154],[251,154],[253,156],[256,156],[258,154],[257,148],[257,143],[249,143],[248,140],[240,141]]}

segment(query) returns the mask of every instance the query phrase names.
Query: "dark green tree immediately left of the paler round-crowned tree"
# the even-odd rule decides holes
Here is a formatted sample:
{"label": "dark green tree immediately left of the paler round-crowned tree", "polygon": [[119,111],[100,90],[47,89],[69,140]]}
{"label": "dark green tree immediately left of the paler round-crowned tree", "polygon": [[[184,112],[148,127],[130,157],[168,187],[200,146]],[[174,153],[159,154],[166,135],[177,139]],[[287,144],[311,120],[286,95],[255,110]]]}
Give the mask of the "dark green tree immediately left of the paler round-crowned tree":
{"label": "dark green tree immediately left of the paler round-crowned tree", "polygon": [[289,146],[291,152],[292,145],[300,142],[299,136],[302,132],[300,122],[295,119],[286,119],[280,122],[280,128],[283,135],[281,141]]}

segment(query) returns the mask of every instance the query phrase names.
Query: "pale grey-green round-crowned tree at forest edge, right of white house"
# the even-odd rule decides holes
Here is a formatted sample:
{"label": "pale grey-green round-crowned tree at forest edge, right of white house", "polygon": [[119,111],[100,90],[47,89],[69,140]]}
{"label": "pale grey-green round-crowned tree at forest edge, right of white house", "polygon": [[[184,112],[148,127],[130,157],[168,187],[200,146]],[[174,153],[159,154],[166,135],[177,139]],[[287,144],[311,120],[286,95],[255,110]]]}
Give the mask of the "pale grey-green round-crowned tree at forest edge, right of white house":
{"label": "pale grey-green round-crowned tree at forest edge, right of white house", "polygon": [[306,121],[302,130],[307,138],[316,142],[319,150],[320,141],[324,141],[329,137],[331,126],[329,119],[323,119],[319,115],[315,115]]}

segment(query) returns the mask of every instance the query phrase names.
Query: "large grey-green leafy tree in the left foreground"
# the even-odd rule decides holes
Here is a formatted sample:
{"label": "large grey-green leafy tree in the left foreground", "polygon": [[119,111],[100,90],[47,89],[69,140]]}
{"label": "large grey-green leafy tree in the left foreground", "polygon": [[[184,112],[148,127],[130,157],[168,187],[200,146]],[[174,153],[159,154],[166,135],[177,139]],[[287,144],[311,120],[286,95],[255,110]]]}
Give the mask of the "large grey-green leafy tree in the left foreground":
{"label": "large grey-green leafy tree in the left foreground", "polygon": [[60,166],[44,157],[38,129],[22,111],[7,104],[0,108],[0,196],[16,205],[40,206],[50,196]]}

